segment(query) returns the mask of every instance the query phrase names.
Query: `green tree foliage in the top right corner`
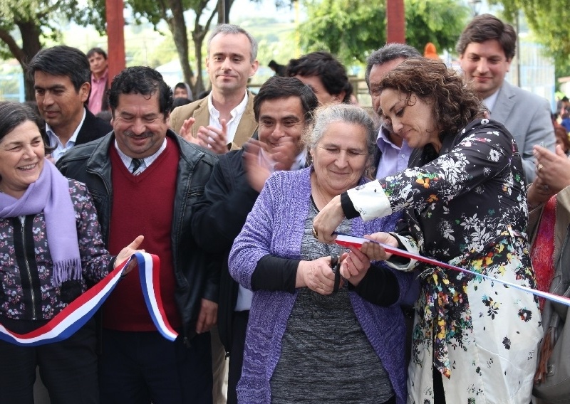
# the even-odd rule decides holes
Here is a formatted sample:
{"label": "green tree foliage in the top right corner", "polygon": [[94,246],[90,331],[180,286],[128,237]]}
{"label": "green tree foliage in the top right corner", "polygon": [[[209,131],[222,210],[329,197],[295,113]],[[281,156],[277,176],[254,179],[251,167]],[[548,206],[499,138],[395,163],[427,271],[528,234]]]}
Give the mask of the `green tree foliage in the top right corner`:
{"label": "green tree foliage in the top right corner", "polygon": [[524,13],[537,42],[554,58],[556,77],[570,75],[570,7],[568,0],[489,0],[502,5],[504,19],[514,23]]}

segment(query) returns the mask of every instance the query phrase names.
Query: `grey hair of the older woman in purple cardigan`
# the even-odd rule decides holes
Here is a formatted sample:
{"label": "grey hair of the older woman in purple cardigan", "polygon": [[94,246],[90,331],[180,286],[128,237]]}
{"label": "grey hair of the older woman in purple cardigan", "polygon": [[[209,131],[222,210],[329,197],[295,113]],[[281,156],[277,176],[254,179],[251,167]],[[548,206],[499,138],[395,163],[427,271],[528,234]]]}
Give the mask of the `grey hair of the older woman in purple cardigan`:
{"label": "grey hair of the older woman in purple cardigan", "polygon": [[[356,124],[366,130],[366,149],[368,150],[368,158],[372,160],[376,149],[374,122],[363,108],[351,104],[329,104],[316,109],[313,127],[306,134],[306,144],[309,148],[314,149],[323,138],[328,127],[335,122]],[[346,134],[346,136],[350,135],[350,133]]]}

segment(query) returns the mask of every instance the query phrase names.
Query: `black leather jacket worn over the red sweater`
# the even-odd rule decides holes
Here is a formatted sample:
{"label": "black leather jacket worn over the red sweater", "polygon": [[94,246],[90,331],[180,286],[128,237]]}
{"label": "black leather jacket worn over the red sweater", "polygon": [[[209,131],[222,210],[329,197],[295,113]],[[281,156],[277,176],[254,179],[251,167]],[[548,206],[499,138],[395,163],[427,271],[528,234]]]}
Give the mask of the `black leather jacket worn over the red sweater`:
{"label": "black leather jacket worn over the red sweater", "polygon": [[[219,273],[210,273],[210,257],[198,248],[190,222],[196,201],[204,193],[217,157],[210,151],[190,144],[172,130],[167,137],[180,150],[177,171],[174,218],[172,219],[172,257],[177,289],[175,299],[182,316],[185,341],[195,335],[196,321],[202,298],[217,302]],[[73,147],[58,160],[64,176],[85,183],[93,196],[105,245],[109,240],[109,220],[113,201],[109,148],[114,147],[115,134]]]}

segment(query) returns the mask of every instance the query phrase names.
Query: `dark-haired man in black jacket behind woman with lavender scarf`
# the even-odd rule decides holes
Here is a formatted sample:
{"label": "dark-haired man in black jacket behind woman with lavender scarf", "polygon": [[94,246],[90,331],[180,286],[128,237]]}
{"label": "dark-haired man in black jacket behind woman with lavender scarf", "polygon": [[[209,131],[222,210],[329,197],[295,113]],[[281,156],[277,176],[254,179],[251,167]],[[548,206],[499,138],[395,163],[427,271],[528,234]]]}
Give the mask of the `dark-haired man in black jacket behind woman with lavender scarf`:
{"label": "dark-haired man in black jacket behind woman with lavender scarf", "polygon": [[76,144],[103,137],[113,129],[85,107],[91,72],[81,50],[69,46],[42,49],[28,64],[27,73],[46,121],[46,144],[53,147],[54,161]]}

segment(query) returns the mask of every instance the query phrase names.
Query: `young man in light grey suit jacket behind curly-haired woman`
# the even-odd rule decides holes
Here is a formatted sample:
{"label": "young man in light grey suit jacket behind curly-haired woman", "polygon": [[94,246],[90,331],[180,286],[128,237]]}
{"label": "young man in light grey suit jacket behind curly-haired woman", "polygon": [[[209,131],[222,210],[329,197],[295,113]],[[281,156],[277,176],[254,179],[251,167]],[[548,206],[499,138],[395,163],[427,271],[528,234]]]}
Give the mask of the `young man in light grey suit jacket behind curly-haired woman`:
{"label": "young man in light grey suit jacket behind curly-haired woman", "polygon": [[542,143],[554,151],[556,138],[548,101],[504,80],[516,47],[517,33],[511,25],[482,14],[467,25],[455,49],[465,78],[492,119],[504,124],[517,142],[529,184],[536,176],[532,147]]}

